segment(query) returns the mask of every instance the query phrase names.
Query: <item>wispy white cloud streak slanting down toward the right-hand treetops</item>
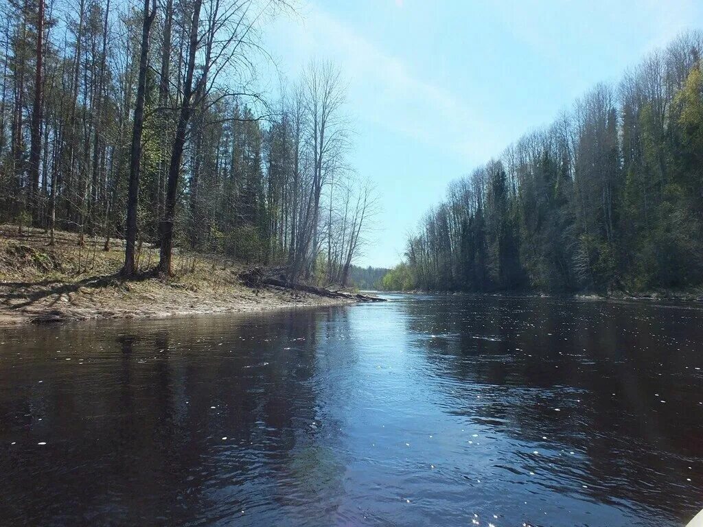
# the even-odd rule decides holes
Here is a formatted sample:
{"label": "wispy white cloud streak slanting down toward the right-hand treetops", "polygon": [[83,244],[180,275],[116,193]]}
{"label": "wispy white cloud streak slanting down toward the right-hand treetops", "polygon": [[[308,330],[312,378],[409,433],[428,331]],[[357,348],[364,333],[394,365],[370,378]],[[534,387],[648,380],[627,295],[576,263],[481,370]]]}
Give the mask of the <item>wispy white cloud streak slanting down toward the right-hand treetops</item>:
{"label": "wispy white cloud streak slanting down toward the right-hand treetops", "polygon": [[485,157],[486,148],[496,147],[487,133],[488,120],[460,96],[423,79],[403,58],[379,48],[321,8],[308,6],[304,22],[288,25],[287,31],[299,58],[320,57],[324,50],[320,58],[339,63],[349,79],[350,106],[359,119],[466,162],[477,162]]}

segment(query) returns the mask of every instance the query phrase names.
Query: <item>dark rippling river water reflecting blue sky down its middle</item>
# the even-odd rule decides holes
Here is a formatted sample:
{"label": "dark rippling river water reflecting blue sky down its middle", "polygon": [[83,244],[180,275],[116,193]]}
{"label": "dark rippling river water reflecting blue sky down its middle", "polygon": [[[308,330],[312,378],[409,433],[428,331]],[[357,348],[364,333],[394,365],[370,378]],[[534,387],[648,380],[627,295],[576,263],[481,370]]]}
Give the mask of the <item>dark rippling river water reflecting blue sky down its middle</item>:
{"label": "dark rippling river water reflecting blue sky down its middle", "polygon": [[0,524],[676,526],[703,309],[385,304],[0,330]]}

